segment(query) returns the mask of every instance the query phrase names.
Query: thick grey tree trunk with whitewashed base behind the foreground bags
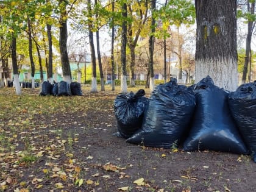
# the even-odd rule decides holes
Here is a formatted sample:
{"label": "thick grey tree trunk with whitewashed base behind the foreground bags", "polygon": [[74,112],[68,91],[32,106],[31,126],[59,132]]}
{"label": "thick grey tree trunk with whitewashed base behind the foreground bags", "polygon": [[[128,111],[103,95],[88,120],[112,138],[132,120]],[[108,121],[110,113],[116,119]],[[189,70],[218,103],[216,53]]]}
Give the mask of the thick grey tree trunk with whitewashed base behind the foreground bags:
{"label": "thick grey tree trunk with whitewashed base behind the foreground bags", "polygon": [[238,86],[236,1],[195,1],[196,82],[209,75],[229,91]]}

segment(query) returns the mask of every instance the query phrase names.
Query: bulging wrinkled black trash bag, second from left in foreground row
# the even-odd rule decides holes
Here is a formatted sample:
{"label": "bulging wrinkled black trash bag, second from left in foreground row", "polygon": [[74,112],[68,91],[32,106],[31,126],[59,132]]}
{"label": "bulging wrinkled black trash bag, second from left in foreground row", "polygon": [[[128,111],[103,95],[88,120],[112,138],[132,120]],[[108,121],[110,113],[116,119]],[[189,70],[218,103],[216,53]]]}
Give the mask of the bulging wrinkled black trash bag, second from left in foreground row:
{"label": "bulging wrinkled black trash bag, second from left in foreground row", "polygon": [[158,85],[149,98],[141,129],[126,141],[154,148],[180,144],[189,130],[195,105],[194,94],[179,86],[175,78]]}

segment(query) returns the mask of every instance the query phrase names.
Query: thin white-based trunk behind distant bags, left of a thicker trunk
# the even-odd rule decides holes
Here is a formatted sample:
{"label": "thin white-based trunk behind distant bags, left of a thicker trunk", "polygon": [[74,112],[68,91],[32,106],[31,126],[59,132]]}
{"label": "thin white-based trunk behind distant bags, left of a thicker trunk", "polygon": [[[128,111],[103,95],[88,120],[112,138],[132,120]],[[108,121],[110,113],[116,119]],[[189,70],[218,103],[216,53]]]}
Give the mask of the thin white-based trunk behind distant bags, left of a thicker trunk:
{"label": "thin white-based trunk behind distant bags, left of a thicker trunk", "polygon": [[47,27],[47,37],[48,37],[48,66],[47,66],[47,79],[52,84],[53,83],[53,74],[52,74],[52,26],[50,24],[46,24]]}

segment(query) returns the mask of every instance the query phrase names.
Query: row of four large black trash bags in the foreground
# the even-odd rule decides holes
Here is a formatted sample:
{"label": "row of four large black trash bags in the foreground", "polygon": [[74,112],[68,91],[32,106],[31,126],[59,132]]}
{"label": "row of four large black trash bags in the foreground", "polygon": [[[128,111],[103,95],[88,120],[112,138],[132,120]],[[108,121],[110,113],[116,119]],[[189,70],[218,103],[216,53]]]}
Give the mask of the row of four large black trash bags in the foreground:
{"label": "row of four large black trash bags in the foreground", "polygon": [[209,76],[190,87],[172,79],[144,95],[116,96],[118,134],[128,143],[251,154],[256,162],[256,82],[229,93]]}

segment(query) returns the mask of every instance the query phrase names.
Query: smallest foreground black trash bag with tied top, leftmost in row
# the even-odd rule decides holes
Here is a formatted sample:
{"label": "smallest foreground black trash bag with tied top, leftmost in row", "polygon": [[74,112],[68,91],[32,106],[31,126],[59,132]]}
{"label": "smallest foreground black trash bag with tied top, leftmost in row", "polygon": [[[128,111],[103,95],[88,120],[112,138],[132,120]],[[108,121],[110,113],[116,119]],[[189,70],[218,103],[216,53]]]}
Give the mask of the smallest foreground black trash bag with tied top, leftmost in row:
{"label": "smallest foreground black trash bag with tied top, leftmost in row", "polygon": [[119,134],[129,138],[141,128],[144,110],[148,106],[149,99],[144,96],[144,90],[138,90],[136,94],[119,94],[114,101],[116,124]]}

